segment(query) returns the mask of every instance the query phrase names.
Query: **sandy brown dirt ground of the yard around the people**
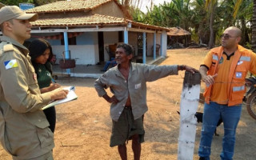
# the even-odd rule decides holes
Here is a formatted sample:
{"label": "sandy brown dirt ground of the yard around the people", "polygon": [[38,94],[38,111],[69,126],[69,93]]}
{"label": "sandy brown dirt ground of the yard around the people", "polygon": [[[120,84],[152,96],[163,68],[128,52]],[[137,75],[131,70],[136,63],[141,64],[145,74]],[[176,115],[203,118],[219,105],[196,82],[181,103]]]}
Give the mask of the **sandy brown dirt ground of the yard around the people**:
{"label": "sandy brown dirt ground of the yard around the people", "polygon": [[[160,65],[186,64],[198,69],[206,49],[168,50],[167,58]],[[179,101],[182,91],[184,71],[147,83],[147,104],[149,111],[144,117],[146,130],[142,143],[142,160],[173,160],[178,158]],[[54,159],[56,160],[117,160],[117,147],[111,148],[110,104],[98,98],[94,90],[93,78],[71,78],[58,81],[62,86],[75,86],[78,100],[56,106],[57,126],[54,133]],[[203,86],[203,84],[202,84]],[[108,91],[110,94],[110,91]],[[203,111],[202,104],[198,110]],[[202,123],[198,124],[194,159],[198,159],[198,143]],[[212,142],[212,160],[218,160],[222,150],[223,125],[217,129],[220,136]],[[128,159],[133,152],[127,145]],[[254,160],[256,149],[256,121],[250,118],[246,107],[238,124],[234,160]],[[0,146],[0,159],[10,160],[10,155]]]}

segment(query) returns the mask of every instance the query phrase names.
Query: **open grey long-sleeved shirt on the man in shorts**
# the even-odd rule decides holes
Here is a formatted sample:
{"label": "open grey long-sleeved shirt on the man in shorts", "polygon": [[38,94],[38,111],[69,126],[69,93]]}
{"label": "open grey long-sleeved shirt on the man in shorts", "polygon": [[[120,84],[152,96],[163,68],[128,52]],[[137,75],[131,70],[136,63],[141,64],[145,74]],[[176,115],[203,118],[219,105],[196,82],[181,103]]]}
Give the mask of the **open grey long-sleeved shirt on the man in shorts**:
{"label": "open grey long-sleeved shirt on the man in shorts", "polygon": [[134,119],[140,118],[146,113],[146,82],[153,82],[158,78],[164,78],[170,74],[178,74],[178,66],[154,66],[140,63],[131,63],[128,80],[118,70],[118,66],[107,70],[94,82],[98,96],[106,94],[106,88],[110,87],[111,92],[118,99],[118,103],[110,106],[110,116],[114,121],[122,114],[126,105],[128,95]]}

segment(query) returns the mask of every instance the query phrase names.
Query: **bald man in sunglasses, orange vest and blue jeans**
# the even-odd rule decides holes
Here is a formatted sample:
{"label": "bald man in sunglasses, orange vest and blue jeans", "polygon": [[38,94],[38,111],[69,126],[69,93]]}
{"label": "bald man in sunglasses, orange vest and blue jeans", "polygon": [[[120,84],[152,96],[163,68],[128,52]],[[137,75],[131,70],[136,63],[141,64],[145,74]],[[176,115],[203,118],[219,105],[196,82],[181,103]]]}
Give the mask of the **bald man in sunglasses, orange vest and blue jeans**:
{"label": "bald man in sunglasses, orange vest and blue jeans", "polygon": [[210,159],[210,146],[219,118],[224,125],[221,159],[234,155],[235,131],[242,111],[242,98],[246,92],[247,71],[256,73],[256,54],[238,45],[242,31],[230,26],[222,34],[222,46],[206,55],[200,66],[202,81],[206,82],[206,100],[202,135],[198,154],[200,160]]}

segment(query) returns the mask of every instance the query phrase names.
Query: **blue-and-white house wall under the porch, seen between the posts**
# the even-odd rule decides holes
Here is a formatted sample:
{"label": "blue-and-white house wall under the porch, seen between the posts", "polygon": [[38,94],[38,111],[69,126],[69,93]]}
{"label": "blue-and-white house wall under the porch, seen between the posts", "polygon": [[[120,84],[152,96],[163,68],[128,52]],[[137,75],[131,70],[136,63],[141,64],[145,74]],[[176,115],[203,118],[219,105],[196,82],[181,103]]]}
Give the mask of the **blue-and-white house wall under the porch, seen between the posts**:
{"label": "blue-and-white house wall under the porch, seen between the posts", "polygon": [[[134,55],[138,54],[138,33],[129,32],[128,42],[131,46],[134,46]],[[106,46],[114,43],[118,43],[118,32],[104,32],[104,59],[109,60],[109,55],[106,52]],[[162,38],[162,39],[161,39]],[[160,52],[162,56],[166,56],[166,43],[167,34],[162,32],[156,34],[156,43],[161,45]],[[48,40],[53,47],[53,52],[56,54],[57,64],[59,59],[62,59],[62,53],[65,50],[65,46],[61,45],[60,40]],[[162,42],[162,44],[161,44]],[[154,34],[147,33],[147,56],[153,56],[152,46],[154,45]],[[69,45],[70,57],[76,60],[77,65],[95,65],[99,62],[98,55],[98,33],[86,32],[77,37],[77,45]]]}

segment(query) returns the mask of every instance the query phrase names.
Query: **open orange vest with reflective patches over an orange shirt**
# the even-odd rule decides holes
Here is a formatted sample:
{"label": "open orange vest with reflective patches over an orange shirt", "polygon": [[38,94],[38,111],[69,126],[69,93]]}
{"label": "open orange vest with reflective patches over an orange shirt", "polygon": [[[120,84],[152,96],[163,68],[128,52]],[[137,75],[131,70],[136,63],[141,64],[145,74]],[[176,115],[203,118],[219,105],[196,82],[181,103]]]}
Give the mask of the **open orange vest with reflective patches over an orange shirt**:
{"label": "open orange vest with reflective patches over an orange shirt", "polygon": [[[212,64],[207,71],[207,74],[214,75],[217,74],[218,62],[222,58],[223,47],[219,46],[210,50],[212,54]],[[235,106],[242,103],[242,98],[246,92],[245,88],[245,78],[247,71],[250,70],[256,73],[256,56],[251,50],[238,45],[238,50],[234,53],[233,62],[230,67],[230,74],[228,76],[228,89],[227,95],[229,98],[228,106]],[[239,76],[237,76],[239,75]],[[210,93],[212,85],[206,86],[204,92],[205,102],[210,103]]]}

